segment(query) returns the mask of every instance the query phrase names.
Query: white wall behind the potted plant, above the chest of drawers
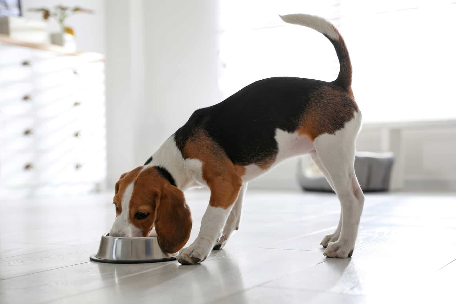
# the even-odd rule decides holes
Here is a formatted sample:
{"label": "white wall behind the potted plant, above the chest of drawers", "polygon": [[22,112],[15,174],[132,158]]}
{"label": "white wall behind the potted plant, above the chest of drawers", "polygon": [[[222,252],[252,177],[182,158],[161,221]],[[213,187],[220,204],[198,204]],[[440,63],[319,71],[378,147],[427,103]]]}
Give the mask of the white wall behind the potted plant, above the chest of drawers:
{"label": "white wall behind the potted plant, above the chest of drawers", "polygon": [[[105,0],[21,0],[22,15],[28,19],[42,20],[42,14],[29,12],[29,8],[53,7],[54,5],[81,6],[95,10],[93,15],[78,13],[68,18],[68,26],[75,31],[79,51],[105,53]],[[48,31],[58,32],[55,20],[48,20]]]}

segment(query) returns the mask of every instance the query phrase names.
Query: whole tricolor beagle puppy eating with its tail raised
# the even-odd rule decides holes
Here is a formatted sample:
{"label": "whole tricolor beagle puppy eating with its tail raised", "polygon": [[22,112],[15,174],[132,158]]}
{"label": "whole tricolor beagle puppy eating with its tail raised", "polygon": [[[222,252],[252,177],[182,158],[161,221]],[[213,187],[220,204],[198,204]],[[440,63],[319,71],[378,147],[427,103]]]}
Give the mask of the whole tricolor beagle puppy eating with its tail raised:
{"label": "whole tricolor beagle puppy eating with its tail raised", "polygon": [[351,89],[352,66],[339,31],[313,15],[280,16],[319,31],[339,59],[335,81],[274,77],[256,81],[226,100],[195,111],[144,164],[115,185],[113,236],[148,236],[155,228],[163,251],[175,253],[192,228],[182,191],[207,186],[211,197],[182,264],[204,261],[239,228],[247,183],[279,162],[310,153],[341,204],[339,224],[321,244],[331,258],[352,255],[364,196],[355,175],[361,112]]}

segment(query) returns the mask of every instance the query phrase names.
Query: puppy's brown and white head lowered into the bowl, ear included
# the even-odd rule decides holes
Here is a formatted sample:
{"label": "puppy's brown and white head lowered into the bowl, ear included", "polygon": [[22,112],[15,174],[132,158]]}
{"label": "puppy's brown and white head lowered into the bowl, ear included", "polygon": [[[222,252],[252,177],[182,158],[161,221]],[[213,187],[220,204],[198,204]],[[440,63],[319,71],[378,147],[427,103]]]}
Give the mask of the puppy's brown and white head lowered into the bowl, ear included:
{"label": "puppy's brown and white head lowered into the bowl, ear included", "polygon": [[146,237],[155,227],[160,247],[175,253],[192,230],[184,193],[171,185],[157,167],[137,167],[115,184],[116,218],[109,232],[118,237]]}

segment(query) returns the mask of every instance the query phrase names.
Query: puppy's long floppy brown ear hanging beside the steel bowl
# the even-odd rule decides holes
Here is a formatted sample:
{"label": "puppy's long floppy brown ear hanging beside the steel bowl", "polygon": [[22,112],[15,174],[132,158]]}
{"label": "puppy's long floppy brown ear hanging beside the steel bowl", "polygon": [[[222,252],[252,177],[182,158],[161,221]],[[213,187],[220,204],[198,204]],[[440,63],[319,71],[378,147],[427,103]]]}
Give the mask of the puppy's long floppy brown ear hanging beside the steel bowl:
{"label": "puppy's long floppy brown ear hanging beside the steel bowl", "polygon": [[166,253],[181,250],[192,231],[192,214],[185,203],[184,193],[168,183],[161,189],[155,203],[155,231],[158,243]]}

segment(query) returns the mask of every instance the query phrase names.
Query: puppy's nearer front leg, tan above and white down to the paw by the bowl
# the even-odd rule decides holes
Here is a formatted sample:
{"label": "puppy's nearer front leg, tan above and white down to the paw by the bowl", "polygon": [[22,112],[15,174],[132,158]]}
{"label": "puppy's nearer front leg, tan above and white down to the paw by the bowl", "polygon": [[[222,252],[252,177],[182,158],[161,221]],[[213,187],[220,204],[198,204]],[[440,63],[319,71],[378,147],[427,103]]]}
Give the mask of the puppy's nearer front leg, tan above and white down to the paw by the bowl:
{"label": "puppy's nearer front leg, tan above and white down to the paw by the bowl", "polygon": [[200,232],[195,241],[183,248],[177,256],[181,264],[197,264],[204,261],[215,243],[222,235],[222,229],[227,221],[233,204],[238,198],[242,181],[239,177],[218,178],[207,182],[211,189],[211,198],[201,220]]}

